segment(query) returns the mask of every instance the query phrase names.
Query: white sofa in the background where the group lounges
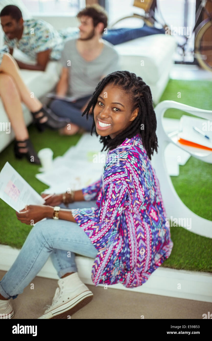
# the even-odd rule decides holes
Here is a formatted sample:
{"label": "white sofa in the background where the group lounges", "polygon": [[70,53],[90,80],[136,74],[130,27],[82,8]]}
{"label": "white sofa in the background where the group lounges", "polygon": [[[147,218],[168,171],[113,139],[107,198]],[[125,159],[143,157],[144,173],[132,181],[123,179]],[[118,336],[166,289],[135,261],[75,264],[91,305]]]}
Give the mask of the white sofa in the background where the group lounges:
{"label": "white sofa in the background where the group lounges", "polygon": [[[17,0],[12,1],[15,2]],[[18,1],[20,2],[20,0]],[[24,19],[27,19],[26,16]],[[68,26],[76,27],[77,25],[75,17],[42,17],[42,19],[48,21],[56,29]],[[0,28],[0,46],[2,45],[2,37],[3,31]],[[128,70],[142,77],[150,86],[153,101],[157,104],[167,85],[169,71],[173,64],[173,55],[176,48],[174,37],[165,34],[155,34],[115,45],[114,48],[120,55],[120,70]],[[14,49],[14,57],[22,61],[30,61],[26,55],[16,49]],[[51,61],[48,63],[46,71],[20,70],[20,72],[30,91],[34,92],[34,95],[43,101],[45,94],[51,91],[59,80],[60,66],[58,62]],[[25,122],[28,126],[32,122],[32,116],[24,104],[22,107]],[[0,122],[8,122],[1,99]],[[14,133],[12,129],[10,134],[0,131],[0,152],[13,139]]]}

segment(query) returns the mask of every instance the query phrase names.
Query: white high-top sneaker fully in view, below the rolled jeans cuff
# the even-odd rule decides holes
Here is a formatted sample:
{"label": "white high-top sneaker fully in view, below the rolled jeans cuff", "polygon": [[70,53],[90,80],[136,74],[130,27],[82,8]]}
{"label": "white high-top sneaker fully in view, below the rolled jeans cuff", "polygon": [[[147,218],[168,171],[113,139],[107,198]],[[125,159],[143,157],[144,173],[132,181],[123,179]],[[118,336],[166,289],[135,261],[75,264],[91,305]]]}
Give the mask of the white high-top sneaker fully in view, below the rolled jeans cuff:
{"label": "white high-top sneaker fully in view, below the rolled jeans cuff", "polygon": [[68,318],[93,299],[93,293],[80,280],[78,273],[58,280],[52,305],[38,318]]}

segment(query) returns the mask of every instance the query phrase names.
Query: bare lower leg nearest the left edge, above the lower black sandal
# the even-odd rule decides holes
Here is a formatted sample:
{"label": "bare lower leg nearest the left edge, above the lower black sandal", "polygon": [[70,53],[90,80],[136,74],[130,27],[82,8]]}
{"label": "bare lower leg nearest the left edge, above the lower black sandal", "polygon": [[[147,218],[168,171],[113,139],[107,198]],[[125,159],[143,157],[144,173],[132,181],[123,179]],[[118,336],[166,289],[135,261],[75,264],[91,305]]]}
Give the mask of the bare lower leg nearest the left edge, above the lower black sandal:
{"label": "bare lower leg nearest the left edge, above the lower black sandal", "polygon": [[23,118],[20,95],[13,78],[8,74],[0,73],[0,96],[16,139],[25,140],[29,138]]}

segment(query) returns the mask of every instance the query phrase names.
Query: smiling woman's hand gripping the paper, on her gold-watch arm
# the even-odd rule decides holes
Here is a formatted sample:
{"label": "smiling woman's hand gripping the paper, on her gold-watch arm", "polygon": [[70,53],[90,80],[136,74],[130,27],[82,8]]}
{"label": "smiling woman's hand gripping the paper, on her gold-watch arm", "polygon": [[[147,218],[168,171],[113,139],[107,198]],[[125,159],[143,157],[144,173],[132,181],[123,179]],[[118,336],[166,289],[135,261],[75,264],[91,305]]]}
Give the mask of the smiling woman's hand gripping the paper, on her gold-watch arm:
{"label": "smiling woman's hand gripping the paper, on her gold-watch arm", "polygon": [[26,205],[20,213],[16,211],[18,220],[27,225],[34,225],[44,218],[53,216],[54,208],[46,205]]}

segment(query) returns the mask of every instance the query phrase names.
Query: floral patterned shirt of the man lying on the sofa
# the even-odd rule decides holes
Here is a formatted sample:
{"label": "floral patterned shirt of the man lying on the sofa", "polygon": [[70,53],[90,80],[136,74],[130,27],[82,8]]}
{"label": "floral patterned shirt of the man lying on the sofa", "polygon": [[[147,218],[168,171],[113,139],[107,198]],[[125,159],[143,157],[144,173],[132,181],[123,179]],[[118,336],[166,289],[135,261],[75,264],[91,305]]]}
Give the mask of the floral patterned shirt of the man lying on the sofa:
{"label": "floral patterned shirt of the man lying on the sofa", "polygon": [[76,38],[77,34],[76,28],[57,31],[44,20],[29,19],[23,22],[21,39],[9,39],[4,34],[4,44],[10,48],[18,48],[32,59],[36,59],[37,53],[51,49],[50,59],[59,60],[65,40]]}

